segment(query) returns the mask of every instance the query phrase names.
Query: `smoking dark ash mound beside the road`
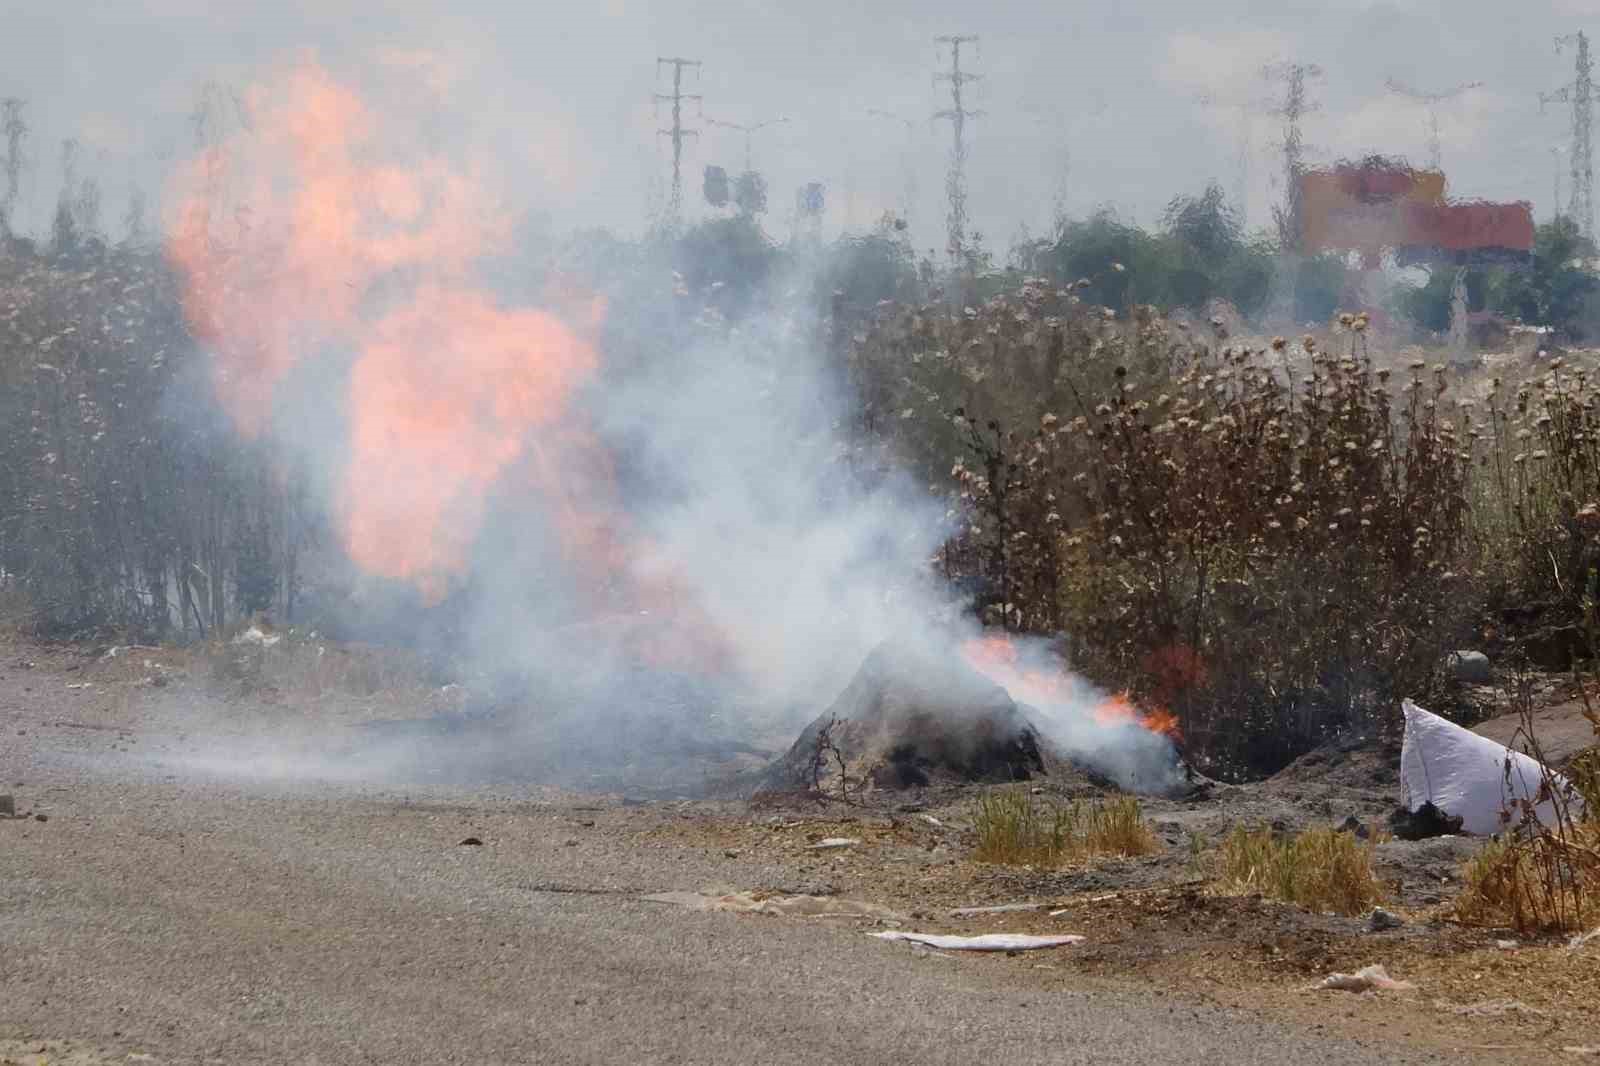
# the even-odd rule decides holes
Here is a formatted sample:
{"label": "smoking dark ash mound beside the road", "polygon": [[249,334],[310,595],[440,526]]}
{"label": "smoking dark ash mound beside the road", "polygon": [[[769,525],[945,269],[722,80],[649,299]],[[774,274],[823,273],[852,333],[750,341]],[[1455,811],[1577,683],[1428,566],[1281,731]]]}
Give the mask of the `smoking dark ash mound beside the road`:
{"label": "smoking dark ash mound beside the road", "polygon": [[955,655],[883,643],[773,763],[765,787],[854,792],[1037,773],[1045,744],[1005,688]]}

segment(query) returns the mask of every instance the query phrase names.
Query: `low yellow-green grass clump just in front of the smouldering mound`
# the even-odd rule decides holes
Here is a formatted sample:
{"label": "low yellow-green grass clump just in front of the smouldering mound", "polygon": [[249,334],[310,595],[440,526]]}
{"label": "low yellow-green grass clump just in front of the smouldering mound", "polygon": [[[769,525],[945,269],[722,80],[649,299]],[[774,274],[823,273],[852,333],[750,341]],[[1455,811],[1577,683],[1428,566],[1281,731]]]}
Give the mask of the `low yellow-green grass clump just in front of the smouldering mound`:
{"label": "low yellow-green grass clump just in front of the smouldering mound", "polygon": [[1035,800],[1024,789],[994,791],[979,797],[973,828],[974,858],[982,863],[1061,866],[1157,848],[1139,800],[1131,795],[1058,805]]}

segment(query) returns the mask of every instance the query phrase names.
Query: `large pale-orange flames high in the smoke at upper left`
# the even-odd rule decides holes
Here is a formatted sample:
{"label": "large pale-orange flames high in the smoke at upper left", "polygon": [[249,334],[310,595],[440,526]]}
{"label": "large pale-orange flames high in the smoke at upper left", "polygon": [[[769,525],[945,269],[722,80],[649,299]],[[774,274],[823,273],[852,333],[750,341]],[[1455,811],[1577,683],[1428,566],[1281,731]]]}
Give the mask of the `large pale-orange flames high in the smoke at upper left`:
{"label": "large pale-orange flames high in the smoke at upper left", "polygon": [[568,555],[611,575],[621,520],[608,474],[587,480],[606,459],[570,403],[598,365],[598,304],[574,325],[480,291],[474,262],[498,240],[482,182],[403,144],[314,61],[245,110],[248,130],[178,174],[171,227],[186,315],[240,432],[272,426],[302,363],[347,357],[338,512],[362,568],[438,599],[515,475],[550,501]]}

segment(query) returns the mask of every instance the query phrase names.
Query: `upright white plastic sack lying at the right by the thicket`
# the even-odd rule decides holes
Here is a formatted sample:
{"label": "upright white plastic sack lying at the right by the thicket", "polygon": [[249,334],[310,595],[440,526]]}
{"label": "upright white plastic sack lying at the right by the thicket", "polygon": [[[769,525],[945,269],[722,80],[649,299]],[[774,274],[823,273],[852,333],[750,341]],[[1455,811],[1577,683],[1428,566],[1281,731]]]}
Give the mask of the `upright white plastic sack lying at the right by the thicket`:
{"label": "upright white plastic sack lying at the right by the thicket", "polygon": [[[1400,787],[1406,810],[1422,804],[1461,818],[1464,832],[1488,836],[1509,823],[1502,812],[1514,810],[1517,800],[1539,795],[1539,763],[1504,744],[1478,736],[1410,699],[1405,711],[1405,743],[1400,749]],[[1507,759],[1510,760],[1507,767]],[[1562,787],[1566,781],[1557,778]],[[1582,808],[1574,797],[1574,813]],[[1555,805],[1546,800],[1536,808],[1546,824],[1555,821]]]}

